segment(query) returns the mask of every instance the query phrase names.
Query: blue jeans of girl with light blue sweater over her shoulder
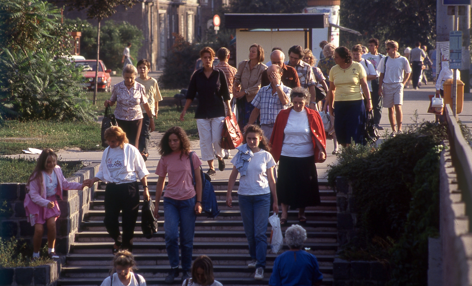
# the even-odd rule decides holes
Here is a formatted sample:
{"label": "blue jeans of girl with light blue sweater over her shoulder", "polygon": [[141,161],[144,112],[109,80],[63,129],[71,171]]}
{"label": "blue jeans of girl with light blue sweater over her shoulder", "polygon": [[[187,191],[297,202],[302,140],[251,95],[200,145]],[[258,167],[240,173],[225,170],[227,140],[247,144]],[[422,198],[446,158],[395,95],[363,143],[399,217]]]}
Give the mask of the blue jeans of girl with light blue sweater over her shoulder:
{"label": "blue jeans of girl with light blue sweater over her shoulder", "polygon": [[238,195],[244,232],[249,244],[249,254],[256,260],[256,268],[265,268],[267,254],[267,223],[269,222],[270,193],[263,195]]}

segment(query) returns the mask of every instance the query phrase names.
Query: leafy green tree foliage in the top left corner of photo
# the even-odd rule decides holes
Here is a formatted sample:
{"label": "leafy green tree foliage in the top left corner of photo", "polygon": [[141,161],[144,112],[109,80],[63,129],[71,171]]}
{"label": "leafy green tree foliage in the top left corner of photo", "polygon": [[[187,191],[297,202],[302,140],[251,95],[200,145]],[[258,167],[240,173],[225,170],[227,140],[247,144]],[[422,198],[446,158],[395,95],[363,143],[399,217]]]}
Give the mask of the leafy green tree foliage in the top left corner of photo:
{"label": "leafy green tree foliage in the top left corner of photo", "polygon": [[67,32],[74,26],[60,24],[59,9],[41,0],[0,1],[0,42],[13,51],[46,49],[53,55],[68,54]]}

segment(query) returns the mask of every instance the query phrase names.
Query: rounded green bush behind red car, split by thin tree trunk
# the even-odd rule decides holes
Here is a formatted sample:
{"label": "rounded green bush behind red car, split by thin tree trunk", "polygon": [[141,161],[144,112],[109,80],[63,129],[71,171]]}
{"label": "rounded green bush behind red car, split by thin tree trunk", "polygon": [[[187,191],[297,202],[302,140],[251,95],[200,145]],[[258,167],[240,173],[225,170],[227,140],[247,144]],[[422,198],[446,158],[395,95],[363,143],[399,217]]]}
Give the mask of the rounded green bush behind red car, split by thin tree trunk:
{"label": "rounded green bush behind red car, split by thin tree trunk", "polygon": [[[95,52],[97,50],[97,30],[86,20],[79,18],[75,20],[65,19],[64,22],[75,24],[78,27],[76,31],[82,32],[80,38],[81,55],[87,59],[95,59],[97,56]],[[120,71],[123,44],[126,42],[133,43],[130,53],[131,56],[137,58],[143,40],[143,32],[135,25],[125,21],[118,23],[113,20],[106,21],[100,29],[100,58],[107,68]]]}

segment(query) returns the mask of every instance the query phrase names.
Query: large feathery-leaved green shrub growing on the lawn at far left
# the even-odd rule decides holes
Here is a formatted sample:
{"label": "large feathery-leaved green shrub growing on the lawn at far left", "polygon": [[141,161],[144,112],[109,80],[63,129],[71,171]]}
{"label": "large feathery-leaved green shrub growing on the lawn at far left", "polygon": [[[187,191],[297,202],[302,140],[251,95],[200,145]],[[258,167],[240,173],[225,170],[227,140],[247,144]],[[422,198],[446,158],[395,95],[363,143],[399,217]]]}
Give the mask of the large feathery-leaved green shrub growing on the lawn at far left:
{"label": "large feathery-leaved green shrub growing on the lawn at far left", "polygon": [[0,52],[0,119],[92,120],[82,68],[47,51]]}

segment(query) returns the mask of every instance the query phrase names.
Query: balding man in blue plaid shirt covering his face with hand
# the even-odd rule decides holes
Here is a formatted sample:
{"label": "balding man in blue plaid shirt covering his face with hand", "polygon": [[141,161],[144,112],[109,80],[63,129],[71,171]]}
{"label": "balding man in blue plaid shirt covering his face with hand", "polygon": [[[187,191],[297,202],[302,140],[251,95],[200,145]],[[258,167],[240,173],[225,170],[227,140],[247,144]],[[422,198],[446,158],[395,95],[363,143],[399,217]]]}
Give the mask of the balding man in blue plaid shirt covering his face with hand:
{"label": "balding man in blue plaid shirt covering his face with hand", "polygon": [[292,89],[282,83],[282,68],[280,66],[272,64],[267,69],[267,74],[270,85],[261,87],[251,102],[254,105],[254,110],[251,112],[248,125],[253,124],[261,114],[261,129],[269,139],[278,112],[287,109],[290,104],[289,96]]}

